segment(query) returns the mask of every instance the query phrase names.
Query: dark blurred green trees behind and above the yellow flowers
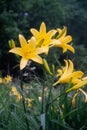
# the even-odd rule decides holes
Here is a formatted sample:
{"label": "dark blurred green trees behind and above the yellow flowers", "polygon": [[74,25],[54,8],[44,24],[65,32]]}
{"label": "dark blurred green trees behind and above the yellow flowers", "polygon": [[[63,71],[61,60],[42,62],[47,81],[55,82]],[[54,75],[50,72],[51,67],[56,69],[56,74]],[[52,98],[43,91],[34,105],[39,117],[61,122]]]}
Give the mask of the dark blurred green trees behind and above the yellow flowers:
{"label": "dark blurred green trees behind and above the yellow flowers", "polygon": [[[86,72],[86,0],[0,0],[0,71],[2,74],[17,72],[17,68],[13,68],[17,64],[16,58],[8,53],[10,49],[8,41],[14,39],[18,45],[18,34],[29,38],[31,36],[29,29],[32,27],[39,29],[42,21],[46,23],[47,30],[67,26],[68,34],[73,37],[73,46],[76,49],[74,55],[71,53],[68,55],[75,62],[76,68]],[[58,54],[59,59],[67,55],[59,55],[59,49],[54,52]]]}

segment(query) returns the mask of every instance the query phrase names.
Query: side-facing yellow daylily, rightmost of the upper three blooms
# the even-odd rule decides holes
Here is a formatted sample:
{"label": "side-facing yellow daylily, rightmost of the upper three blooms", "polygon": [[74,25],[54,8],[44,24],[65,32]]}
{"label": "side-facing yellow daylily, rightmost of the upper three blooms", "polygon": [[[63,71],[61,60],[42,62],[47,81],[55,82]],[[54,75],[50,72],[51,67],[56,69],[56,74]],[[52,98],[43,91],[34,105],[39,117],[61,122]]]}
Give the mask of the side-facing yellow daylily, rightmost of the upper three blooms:
{"label": "side-facing yellow daylily, rightmost of the upper three blooms", "polygon": [[68,44],[72,41],[72,37],[70,35],[67,35],[67,28],[64,27],[63,29],[57,29],[57,31],[58,36],[56,39],[54,39],[53,42],[54,46],[62,48],[63,53],[66,52],[67,50],[74,53],[75,52],[74,48]]}

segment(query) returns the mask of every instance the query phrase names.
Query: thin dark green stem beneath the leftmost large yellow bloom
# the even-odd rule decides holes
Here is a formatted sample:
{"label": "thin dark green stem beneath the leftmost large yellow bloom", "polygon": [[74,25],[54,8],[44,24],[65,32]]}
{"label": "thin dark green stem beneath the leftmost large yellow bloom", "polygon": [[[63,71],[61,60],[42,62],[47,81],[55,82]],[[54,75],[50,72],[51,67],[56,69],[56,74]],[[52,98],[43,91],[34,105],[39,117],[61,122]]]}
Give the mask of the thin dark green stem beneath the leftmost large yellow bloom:
{"label": "thin dark green stem beneath the leftmost large yellow bloom", "polygon": [[[21,87],[21,90],[23,92],[23,72],[22,71],[20,71],[20,87]],[[23,104],[24,113],[25,113],[25,115],[27,115],[25,98],[24,98],[23,93],[21,95],[22,95],[22,104]],[[27,130],[29,130],[29,122],[28,122],[27,117],[25,117],[25,121],[26,121],[26,125],[27,125]]]}

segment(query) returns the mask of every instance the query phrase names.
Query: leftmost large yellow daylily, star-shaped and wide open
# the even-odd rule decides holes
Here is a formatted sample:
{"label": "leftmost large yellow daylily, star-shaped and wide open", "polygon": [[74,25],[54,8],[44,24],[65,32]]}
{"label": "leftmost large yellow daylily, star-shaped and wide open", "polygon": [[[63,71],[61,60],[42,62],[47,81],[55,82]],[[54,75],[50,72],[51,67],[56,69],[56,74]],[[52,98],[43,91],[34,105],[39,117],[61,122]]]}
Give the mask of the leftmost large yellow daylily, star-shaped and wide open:
{"label": "leftmost large yellow daylily, star-shaped and wide open", "polygon": [[22,57],[20,61],[20,69],[22,70],[29,60],[33,60],[35,62],[38,62],[42,64],[42,58],[38,55],[41,53],[46,52],[45,48],[37,48],[36,47],[36,40],[34,37],[32,37],[29,42],[25,40],[23,35],[19,35],[19,41],[21,44],[21,47],[14,47],[9,52],[15,53],[17,55],[20,55]]}

